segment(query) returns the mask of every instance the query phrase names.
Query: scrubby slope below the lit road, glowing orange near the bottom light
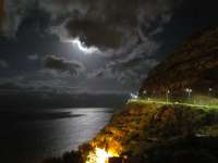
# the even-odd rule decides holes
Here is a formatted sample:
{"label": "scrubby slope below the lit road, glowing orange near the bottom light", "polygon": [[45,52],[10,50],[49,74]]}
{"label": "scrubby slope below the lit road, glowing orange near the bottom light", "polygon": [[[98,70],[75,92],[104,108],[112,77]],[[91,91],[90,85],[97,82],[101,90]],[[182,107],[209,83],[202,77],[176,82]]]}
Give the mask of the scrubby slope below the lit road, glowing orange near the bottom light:
{"label": "scrubby slope below the lit road, glowing orange near the bottom light", "polygon": [[218,161],[218,111],[130,102],[87,145],[128,155],[130,163]]}

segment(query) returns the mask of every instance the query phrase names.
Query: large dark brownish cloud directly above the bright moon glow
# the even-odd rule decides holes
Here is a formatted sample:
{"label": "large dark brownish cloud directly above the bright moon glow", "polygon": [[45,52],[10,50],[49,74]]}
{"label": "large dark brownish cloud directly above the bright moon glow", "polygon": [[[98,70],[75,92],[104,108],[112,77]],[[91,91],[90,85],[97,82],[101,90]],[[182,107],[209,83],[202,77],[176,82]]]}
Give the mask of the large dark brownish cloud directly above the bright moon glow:
{"label": "large dark brownish cloud directly above the bright moon glow", "polygon": [[85,15],[70,17],[65,28],[87,46],[117,49],[131,36],[144,39],[161,32],[174,7],[174,0],[93,0]]}

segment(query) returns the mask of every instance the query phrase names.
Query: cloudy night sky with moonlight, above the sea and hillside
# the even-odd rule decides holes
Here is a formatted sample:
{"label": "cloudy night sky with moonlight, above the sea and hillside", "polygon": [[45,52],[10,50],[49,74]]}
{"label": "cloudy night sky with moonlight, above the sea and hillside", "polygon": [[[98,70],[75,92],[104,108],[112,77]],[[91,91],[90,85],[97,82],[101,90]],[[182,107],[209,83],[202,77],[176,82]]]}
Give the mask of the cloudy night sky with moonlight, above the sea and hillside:
{"label": "cloudy night sky with moonlight, above the sea and hillside", "polygon": [[0,0],[0,88],[136,91],[217,0]]}

